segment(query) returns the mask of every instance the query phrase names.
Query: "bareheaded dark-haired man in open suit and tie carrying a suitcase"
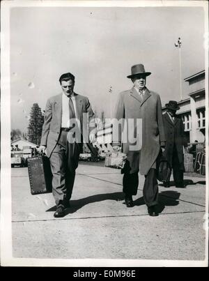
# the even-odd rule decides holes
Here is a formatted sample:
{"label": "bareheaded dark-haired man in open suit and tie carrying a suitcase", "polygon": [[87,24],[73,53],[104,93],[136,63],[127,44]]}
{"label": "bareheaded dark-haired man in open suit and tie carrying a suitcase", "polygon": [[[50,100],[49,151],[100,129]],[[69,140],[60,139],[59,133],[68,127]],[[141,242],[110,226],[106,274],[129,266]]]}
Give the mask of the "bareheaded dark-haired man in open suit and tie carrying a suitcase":
{"label": "bareheaded dark-haired man in open suit and tie carrying a suitcase", "polygon": [[[47,154],[52,169],[52,192],[56,202],[55,218],[65,215],[65,208],[70,207],[70,197],[75,181],[79,153],[84,135],[82,131],[87,116],[92,128],[89,140],[95,139],[94,113],[88,98],[73,91],[75,76],[64,73],[59,78],[62,93],[47,100],[45,121],[42,126],[42,138],[39,151]],[[88,130],[87,130],[88,131]]]}

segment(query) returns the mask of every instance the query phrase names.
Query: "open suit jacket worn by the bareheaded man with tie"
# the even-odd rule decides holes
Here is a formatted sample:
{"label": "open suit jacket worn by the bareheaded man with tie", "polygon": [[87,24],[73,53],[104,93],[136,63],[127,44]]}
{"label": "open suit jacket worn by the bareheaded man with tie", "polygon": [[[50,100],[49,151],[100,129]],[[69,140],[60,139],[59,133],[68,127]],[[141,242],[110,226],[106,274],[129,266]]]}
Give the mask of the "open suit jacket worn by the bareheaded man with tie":
{"label": "open suit jacket worn by the bareheaded man with tie", "polygon": [[[91,109],[90,102],[85,96],[81,96],[75,93],[75,103],[77,111],[77,119],[81,123],[81,128],[83,127],[83,114],[88,113],[88,121],[91,126],[90,130],[95,130],[94,124],[94,113]],[[53,96],[47,100],[47,105],[45,108],[44,124],[42,126],[42,137],[40,145],[47,146],[47,156],[52,155],[56,144],[59,141],[59,136],[61,134],[61,120],[62,120],[62,93],[57,96]],[[84,129],[86,130],[86,125],[84,124]]]}

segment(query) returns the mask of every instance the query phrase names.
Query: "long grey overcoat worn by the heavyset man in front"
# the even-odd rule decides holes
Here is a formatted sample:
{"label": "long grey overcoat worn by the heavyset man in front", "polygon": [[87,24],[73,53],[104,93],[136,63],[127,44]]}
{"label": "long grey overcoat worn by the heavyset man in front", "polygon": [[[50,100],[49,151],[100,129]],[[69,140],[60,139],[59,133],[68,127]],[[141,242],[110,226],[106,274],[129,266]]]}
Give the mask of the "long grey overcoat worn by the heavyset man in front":
{"label": "long grey overcoat worn by the heavyset man in front", "polygon": [[[149,169],[155,167],[160,145],[165,142],[160,96],[146,89],[144,98],[141,100],[139,93],[133,87],[119,94],[115,112],[116,119],[123,118],[127,124],[128,119],[134,121],[142,119],[142,146],[137,151],[132,151],[129,139],[127,142],[121,139],[121,132],[118,138],[115,136],[113,140],[115,144],[123,143],[123,152],[127,153],[127,161],[130,165],[130,174],[139,171],[140,174],[148,174]],[[136,131],[136,126],[133,130]]]}

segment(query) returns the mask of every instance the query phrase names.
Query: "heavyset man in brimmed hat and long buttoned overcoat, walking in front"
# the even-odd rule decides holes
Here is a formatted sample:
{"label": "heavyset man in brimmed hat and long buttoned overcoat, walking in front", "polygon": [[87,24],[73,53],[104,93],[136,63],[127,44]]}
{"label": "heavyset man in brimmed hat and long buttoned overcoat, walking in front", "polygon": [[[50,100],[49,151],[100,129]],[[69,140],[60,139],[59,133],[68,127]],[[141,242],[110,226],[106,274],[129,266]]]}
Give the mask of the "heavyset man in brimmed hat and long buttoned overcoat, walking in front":
{"label": "heavyset man in brimmed hat and long buttoned overcoat, walking in front", "polygon": [[151,73],[144,70],[144,65],[134,65],[131,71],[132,74],[127,78],[132,80],[132,89],[119,94],[115,117],[116,120],[124,119],[128,127],[127,131],[131,130],[133,134],[137,128],[136,126],[130,128],[129,120],[142,119],[142,146],[133,150],[130,139],[124,142],[119,132],[118,136],[114,136],[113,147],[117,151],[123,144],[123,152],[127,154],[125,167],[122,170],[126,206],[134,206],[132,195],[137,195],[138,172],[140,172],[145,176],[143,195],[148,213],[156,216],[158,215],[156,160],[160,149],[165,145],[161,100],[157,93],[146,88],[146,77]]}

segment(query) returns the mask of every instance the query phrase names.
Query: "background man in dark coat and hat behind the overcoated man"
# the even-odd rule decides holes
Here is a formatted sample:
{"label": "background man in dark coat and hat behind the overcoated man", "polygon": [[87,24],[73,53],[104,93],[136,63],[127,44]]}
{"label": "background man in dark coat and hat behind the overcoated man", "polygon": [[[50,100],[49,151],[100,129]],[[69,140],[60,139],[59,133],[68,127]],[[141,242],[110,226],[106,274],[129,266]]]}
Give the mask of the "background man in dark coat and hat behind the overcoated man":
{"label": "background man in dark coat and hat behind the overcoated man", "polygon": [[[167,112],[163,114],[164,130],[167,139],[164,155],[173,169],[173,180],[176,188],[184,188],[183,146],[186,147],[187,144],[185,143],[183,121],[180,117],[176,116],[176,111],[180,107],[175,100],[170,100],[166,107]],[[169,181],[164,183],[164,186],[169,188]]]}

